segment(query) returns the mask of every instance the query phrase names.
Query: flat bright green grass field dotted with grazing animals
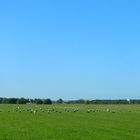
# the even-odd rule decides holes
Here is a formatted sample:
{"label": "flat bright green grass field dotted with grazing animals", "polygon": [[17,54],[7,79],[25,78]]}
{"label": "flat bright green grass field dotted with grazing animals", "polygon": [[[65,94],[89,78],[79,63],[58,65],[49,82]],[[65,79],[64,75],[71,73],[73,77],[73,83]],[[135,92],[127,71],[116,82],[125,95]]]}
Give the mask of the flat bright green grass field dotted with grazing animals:
{"label": "flat bright green grass field dotted with grazing animals", "polygon": [[0,105],[0,140],[140,140],[140,106]]}

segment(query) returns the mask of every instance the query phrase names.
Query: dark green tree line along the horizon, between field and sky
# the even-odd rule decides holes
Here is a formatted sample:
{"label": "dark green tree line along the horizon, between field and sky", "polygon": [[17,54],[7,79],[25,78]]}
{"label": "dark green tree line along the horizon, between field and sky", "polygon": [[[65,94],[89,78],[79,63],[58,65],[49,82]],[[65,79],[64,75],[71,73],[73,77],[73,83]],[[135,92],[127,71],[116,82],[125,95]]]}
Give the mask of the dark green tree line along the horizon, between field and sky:
{"label": "dark green tree line along the horizon, between field and sky", "polygon": [[26,99],[26,98],[0,98],[0,104],[140,104],[140,99],[120,100],[67,100],[58,99]]}

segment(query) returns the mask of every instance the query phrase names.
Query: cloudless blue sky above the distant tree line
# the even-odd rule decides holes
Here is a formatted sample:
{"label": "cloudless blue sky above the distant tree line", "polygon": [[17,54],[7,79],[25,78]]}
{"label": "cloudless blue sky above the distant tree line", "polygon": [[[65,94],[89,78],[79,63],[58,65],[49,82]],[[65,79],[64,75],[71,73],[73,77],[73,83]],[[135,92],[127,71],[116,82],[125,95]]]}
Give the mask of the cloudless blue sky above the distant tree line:
{"label": "cloudless blue sky above the distant tree line", "polygon": [[140,1],[0,1],[0,96],[140,98]]}

